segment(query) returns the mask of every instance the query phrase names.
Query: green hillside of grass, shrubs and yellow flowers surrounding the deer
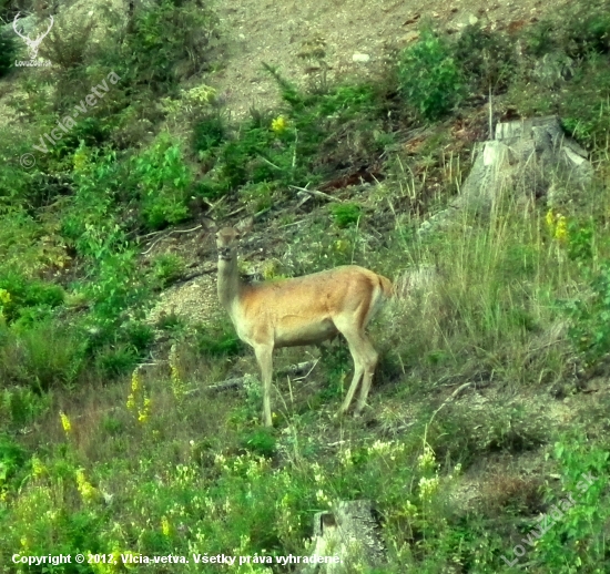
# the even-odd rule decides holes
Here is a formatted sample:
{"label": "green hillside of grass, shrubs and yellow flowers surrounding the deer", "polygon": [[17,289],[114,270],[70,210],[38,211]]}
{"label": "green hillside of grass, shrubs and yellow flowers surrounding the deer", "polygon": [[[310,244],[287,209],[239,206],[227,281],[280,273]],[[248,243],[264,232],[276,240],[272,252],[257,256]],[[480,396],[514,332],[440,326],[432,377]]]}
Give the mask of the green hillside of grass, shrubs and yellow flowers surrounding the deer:
{"label": "green hillside of grass, shrubs and yellow flowers surrounding the deer", "polygon": [[[360,498],[388,562],[347,572],[609,571],[609,9],[510,34],[424,23],[375,84],[301,86],[266,65],[284,103],[241,123],[211,88],[217,20],[201,0],[109,11],[100,38],[87,12],[60,12],[50,68],[11,68],[27,55],[0,35],[14,114],[0,127],[0,572],[296,572],[275,557],[307,555],[314,514]],[[488,136],[489,94],[494,122],[558,114],[593,181],[540,167],[488,216],[424,237]],[[362,419],[334,417],[340,341],[276,352],[266,430],[257,378],[206,390],[258,372],[224,314],[150,320],[214,265],[197,225],[246,215],[244,274],[438,269],[372,327],[383,358]],[[311,373],[277,375],[312,357]],[[190,563],[139,563],[167,554]]]}

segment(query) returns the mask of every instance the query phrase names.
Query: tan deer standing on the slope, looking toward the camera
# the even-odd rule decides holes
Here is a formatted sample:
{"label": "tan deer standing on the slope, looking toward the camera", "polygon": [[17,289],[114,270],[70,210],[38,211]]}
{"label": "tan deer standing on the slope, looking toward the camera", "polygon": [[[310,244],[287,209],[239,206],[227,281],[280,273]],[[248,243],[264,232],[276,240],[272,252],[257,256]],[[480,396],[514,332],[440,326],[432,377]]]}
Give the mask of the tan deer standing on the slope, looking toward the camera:
{"label": "tan deer standing on the slope, looking toward the camera", "polygon": [[364,267],[345,265],[248,285],[242,281],[237,269],[237,246],[243,233],[240,227],[223,227],[216,233],[218,299],[240,339],[254,349],[263,383],[265,427],[273,427],[273,350],[317,345],[338,334],[346,339],[354,360],[354,378],[338,414],[348,411],[362,381],[354,412],[359,416],[366,407],[378,360],[365,328],[393,296],[392,281]]}

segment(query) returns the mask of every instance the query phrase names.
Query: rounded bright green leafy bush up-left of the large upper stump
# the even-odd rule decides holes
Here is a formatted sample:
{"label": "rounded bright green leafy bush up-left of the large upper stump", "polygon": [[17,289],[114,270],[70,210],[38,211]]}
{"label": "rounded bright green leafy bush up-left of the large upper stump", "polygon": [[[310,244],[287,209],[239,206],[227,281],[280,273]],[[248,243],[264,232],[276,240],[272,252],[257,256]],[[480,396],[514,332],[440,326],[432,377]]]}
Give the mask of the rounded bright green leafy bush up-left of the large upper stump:
{"label": "rounded bright green leafy bush up-left of the large upper stump", "polygon": [[399,90],[425,120],[436,121],[459,101],[461,78],[449,45],[425,29],[398,62]]}

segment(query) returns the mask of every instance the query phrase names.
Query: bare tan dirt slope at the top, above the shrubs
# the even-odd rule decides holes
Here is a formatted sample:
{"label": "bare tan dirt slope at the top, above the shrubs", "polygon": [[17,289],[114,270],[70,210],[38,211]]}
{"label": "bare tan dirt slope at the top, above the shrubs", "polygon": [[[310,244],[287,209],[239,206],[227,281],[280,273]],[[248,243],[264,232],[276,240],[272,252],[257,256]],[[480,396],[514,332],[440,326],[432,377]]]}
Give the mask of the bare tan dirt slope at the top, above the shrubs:
{"label": "bare tan dirt slope at the top, above the shrubs", "polygon": [[[224,68],[207,80],[218,89],[233,117],[251,107],[278,103],[275,81],[262,62],[292,81],[319,79],[313,59],[324,49],[328,80],[374,78],[396,50],[417,38],[423,20],[449,33],[479,21],[494,29],[518,29],[566,4],[566,0],[217,0],[224,39]],[[316,70],[317,68],[317,70]]]}

